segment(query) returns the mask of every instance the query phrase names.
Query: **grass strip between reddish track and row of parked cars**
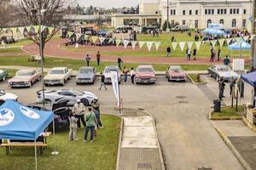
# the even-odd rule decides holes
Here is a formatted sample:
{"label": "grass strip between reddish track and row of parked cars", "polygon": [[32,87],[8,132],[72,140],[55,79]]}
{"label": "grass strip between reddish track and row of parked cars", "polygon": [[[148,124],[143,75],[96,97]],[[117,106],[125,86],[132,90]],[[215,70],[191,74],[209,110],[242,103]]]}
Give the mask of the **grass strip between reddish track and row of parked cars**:
{"label": "grass strip between reddish track and row of parked cars", "polygon": [[[28,55],[14,55],[14,56],[0,56],[0,65],[20,65],[20,66],[30,66],[30,67],[40,67],[40,62],[37,61],[28,61]],[[56,66],[67,66],[73,70],[79,70],[81,66],[84,66],[85,62],[81,59],[60,59],[60,58],[51,58],[46,57],[44,61],[45,68],[52,68]],[[103,71],[106,65],[117,65],[114,62],[102,62],[101,65],[96,65],[96,61],[91,61],[90,65],[95,66],[97,71]],[[136,68],[137,65],[143,64],[132,64],[124,63],[123,66]],[[172,65],[172,64],[170,64]],[[155,71],[166,71],[169,65],[167,64],[153,64]],[[181,65],[185,71],[204,71],[210,65]]]}

